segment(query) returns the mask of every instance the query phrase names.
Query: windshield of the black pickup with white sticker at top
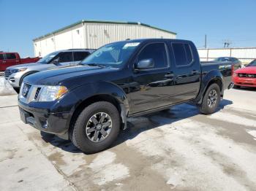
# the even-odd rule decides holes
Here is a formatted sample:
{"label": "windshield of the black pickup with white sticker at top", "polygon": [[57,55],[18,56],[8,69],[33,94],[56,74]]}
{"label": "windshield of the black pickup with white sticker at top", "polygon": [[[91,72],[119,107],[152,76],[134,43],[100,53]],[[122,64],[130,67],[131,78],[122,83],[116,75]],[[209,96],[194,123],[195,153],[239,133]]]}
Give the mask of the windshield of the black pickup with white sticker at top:
{"label": "windshield of the black pickup with white sticker at top", "polygon": [[140,42],[114,42],[100,47],[80,64],[120,68],[129,59]]}

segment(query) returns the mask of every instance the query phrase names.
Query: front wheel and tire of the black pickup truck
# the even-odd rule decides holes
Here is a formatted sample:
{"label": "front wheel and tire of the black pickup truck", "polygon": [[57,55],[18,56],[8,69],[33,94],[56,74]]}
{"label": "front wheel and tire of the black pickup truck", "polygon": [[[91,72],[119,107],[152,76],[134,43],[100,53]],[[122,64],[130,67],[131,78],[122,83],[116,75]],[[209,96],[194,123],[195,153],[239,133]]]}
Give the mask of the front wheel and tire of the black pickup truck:
{"label": "front wheel and tire of the black pickup truck", "polygon": [[[104,122],[100,122],[103,115],[105,116]],[[91,120],[92,118],[94,120]],[[99,122],[97,125],[95,119]],[[107,123],[111,125],[108,128],[103,128]],[[100,125],[102,125],[102,128],[100,128]],[[81,151],[92,154],[110,147],[113,141],[116,140],[120,128],[120,114],[116,106],[107,101],[99,101],[87,106],[80,112],[73,127],[69,130],[69,139]],[[89,130],[94,131],[89,133]],[[103,136],[102,132],[104,133],[104,131],[108,133],[107,136]]]}

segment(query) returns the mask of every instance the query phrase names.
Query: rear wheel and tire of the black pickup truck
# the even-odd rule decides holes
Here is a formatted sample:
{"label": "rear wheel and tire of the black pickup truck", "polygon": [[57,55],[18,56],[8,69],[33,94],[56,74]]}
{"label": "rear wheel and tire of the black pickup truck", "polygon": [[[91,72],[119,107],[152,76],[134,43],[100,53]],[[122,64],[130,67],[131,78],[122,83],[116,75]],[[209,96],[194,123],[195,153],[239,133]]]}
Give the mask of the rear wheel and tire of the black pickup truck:
{"label": "rear wheel and tire of the black pickup truck", "polygon": [[[216,96],[212,96],[216,95]],[[214,98],[211,98],[214,97]],[[208,100],[209,99],[209,100]],[[203,114],[213,114],[216,112],[220,102],[220,90],[219,85],[212,84],[206,90],[203,96],[202,104],[200,105],[200,112]]]}

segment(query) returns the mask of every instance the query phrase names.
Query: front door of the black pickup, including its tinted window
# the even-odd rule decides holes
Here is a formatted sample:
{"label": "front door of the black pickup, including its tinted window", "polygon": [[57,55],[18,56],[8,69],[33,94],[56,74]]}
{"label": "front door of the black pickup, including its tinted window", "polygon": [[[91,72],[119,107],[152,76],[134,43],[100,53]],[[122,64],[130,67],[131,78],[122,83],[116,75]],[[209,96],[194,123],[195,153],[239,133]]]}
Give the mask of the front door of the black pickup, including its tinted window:
{"label": "front door of the black pickup, including its tinted window", "polygon": [[133,114],[173,104],[174,84],[165,42],[146,44],[138,53],[136,62],[145,59],[153,60],[154,67],[133,71],[132,92],[128,95],[132,100],[130,112]]}

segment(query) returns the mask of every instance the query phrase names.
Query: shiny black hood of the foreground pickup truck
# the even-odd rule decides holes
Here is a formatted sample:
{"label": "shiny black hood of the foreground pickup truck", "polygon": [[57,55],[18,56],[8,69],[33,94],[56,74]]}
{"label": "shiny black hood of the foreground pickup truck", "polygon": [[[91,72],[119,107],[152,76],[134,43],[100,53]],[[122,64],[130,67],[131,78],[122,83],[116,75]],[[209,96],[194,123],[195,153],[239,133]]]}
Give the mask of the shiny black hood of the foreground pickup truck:
{"label": "shiny black hood of the foreground pickup truck", "polygon": [[97,80],[97,74],[116,70],[118,69],[100,66],[69,66],[31,74],[24,79],[24,82],[32,85],[61,85],[67,79],[80,78],[80,81],[84,81],[91,75],[94,75],[94,77],[90,77],[90,80]]}

